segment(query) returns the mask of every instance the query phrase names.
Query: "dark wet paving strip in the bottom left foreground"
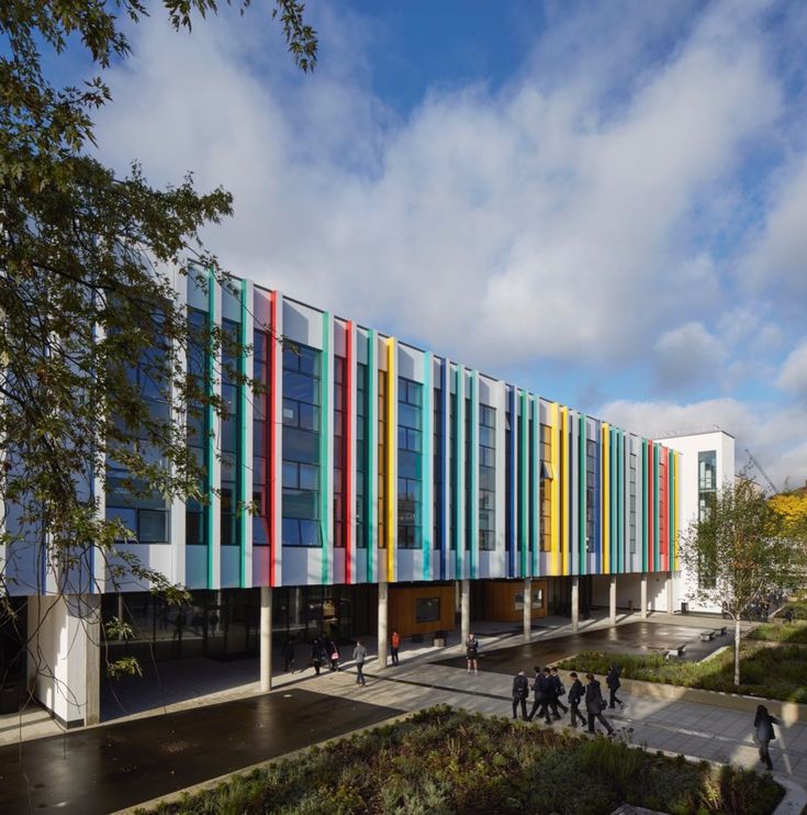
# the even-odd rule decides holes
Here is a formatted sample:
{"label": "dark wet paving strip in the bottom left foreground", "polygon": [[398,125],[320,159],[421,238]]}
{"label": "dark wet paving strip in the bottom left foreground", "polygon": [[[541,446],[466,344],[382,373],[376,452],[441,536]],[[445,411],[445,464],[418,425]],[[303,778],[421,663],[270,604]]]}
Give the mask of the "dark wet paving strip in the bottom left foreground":
{"label": "dark wet paving strip in the bottom left foreground", "polygon": [[295,688],[9,745],[0,813],[110,813],[401,713]]}

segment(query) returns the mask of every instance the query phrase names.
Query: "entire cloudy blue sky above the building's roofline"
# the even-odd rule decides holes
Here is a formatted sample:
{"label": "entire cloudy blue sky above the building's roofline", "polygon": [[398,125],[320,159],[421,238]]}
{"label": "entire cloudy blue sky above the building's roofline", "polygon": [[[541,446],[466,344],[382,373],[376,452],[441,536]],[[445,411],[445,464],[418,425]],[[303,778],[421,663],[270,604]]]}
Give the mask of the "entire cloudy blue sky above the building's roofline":
{"label": "entire cloudy blue sky above the building's roofline", "polygon": [[807,5],[266,2],[108,71],[103,158],[192,169],[233,271],[648,435],[807,478]]}

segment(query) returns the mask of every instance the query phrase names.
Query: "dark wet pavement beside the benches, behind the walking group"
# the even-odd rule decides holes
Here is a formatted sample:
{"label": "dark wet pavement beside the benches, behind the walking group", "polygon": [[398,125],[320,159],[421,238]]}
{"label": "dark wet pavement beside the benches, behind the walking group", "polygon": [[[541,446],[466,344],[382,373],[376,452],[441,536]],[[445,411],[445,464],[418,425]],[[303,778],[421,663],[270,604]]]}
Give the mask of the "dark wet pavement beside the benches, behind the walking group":
{"label": "dark wet pavement beside the benches, behind the walking group", "polygon": [[[705,628],[717,627],[717,623]],[[704,628],[704,629],[705,629]],[[616,654],[647,654],[652,650],[669,650],[686,644],[684,659],[700,660],[718,648],[730,645],[730,634],[702,643],[700,628],[666,623],[625,623],[614,628],[597,628],[581,634],[569,634],[551,639],[519,643],[511,648],[497,648],[485,652],[484,643],[479,665],[482,670],[514,674],[522,668],[530,671],[533,666],[545,666],[573,657],[581,651],[613,651]],[[464,668],[464,656],[433,661],[451,668]]]}

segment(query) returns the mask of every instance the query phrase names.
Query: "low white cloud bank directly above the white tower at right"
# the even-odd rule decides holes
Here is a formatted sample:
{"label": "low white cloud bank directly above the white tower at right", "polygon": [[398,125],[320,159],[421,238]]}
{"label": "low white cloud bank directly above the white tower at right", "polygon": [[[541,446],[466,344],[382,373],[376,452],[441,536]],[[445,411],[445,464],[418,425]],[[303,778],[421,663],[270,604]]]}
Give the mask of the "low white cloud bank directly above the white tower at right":
{"label": "low white cloud bank directly above the white tower at right", "polygon": [[651,438],[722,429],[735,436],[738,469],[750,449],[773,482],[799,485],[807,479],[807,412],[772,404],[713,399],[688,404],[618,400],[598,415]]}

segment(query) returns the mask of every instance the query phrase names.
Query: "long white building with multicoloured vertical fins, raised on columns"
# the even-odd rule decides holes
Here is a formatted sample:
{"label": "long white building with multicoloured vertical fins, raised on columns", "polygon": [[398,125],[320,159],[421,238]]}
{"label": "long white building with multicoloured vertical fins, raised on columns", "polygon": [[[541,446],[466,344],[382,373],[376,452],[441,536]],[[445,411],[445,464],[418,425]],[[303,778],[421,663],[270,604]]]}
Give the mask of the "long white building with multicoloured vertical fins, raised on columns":
{"label": "long white building with multicoloured vertical fins, raised on columns", "polygon": [[[98,719],[107,647],[260,654],[268,686],[270,649],[287,638],[377,635],[385,665],[393,628],[416,637],[459,623],[466,636],[484,618],[528,633],[550,612],[576,626],[593,605],[615,618],[680,602],[681,520],[711,466],[696,447],[642,438],[248,280],[177,286],[190,321],[251,346],[231,361],[267,392],[189,349],[189,373],[229,414],[189,426],[206,502],[135,498],[109,462],[103,511],[134,533],[121,546],[192,590],[189,606],[115,584],[100,559],[86,590],[59,596],[40,557],[13,560],[38,660],[27,681],[65,724]],[[730,457],[718,440],[716,472]],[[256,514],[236,511],[250,501]],[[112,616],[134,640],[102,645],[100,618]]]}

